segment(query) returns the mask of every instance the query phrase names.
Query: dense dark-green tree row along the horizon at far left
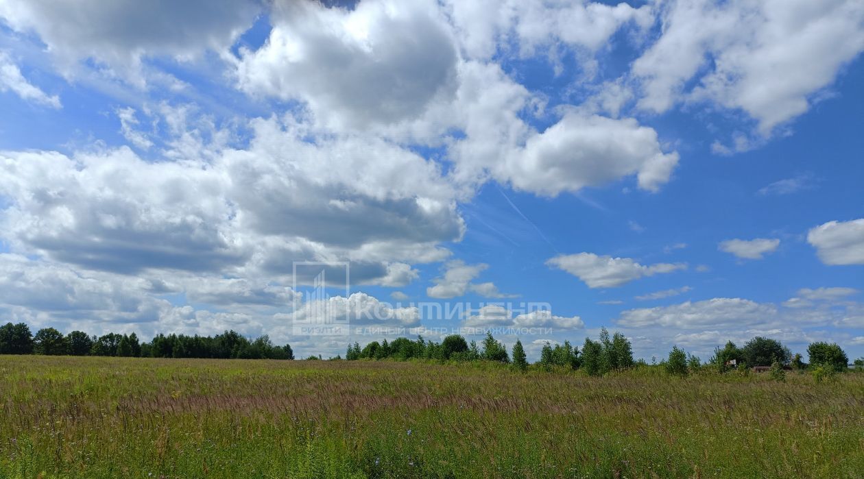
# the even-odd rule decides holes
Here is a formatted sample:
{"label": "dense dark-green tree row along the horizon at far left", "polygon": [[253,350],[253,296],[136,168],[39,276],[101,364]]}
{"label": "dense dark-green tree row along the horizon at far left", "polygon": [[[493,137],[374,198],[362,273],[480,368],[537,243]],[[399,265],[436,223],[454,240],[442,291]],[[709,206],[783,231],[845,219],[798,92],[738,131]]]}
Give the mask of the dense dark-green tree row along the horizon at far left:
{"label": "dense dark-green tree row along the horizon at far left", "polygon": [[236,331],[225,331],[213,337],[159,334],[142,343],[134,332],[110,332],[97,337],[84,331],[63,335],[54,328],[42,328],[33,335],[25,323],[0,326],[0,354],[294,359],[289,344],[273,344],[267,335],[251,340]]}

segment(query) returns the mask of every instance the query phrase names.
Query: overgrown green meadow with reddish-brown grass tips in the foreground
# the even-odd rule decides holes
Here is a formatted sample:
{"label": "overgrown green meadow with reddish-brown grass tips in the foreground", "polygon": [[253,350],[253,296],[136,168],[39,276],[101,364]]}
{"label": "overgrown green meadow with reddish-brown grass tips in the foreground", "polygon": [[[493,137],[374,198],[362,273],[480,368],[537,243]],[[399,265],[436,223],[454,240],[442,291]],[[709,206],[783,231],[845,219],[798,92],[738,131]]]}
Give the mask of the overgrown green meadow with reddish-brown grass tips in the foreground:
{"label": "overgrown green meadow with reddish-brown grass tips in the foreground", "polygon": [[0,356],[0,477],[861,477],[864,375]]}

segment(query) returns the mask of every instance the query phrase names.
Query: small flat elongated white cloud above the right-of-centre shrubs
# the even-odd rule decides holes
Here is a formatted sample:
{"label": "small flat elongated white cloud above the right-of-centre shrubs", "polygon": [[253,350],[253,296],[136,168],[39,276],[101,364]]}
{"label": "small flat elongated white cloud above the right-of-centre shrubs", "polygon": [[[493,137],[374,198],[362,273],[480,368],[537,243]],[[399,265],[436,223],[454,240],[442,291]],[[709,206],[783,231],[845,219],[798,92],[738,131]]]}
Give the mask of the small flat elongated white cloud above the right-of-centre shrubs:
{"label": "small flat elongated white cloud above the right-of-centre shrubs", "polygon": [[644,266],[631,258],[613,258],[594,253],[559,255],[546,262],[585,281],[588,287],[619,287],[632,280],[654,274],[671,273],[686,269],[683,263],[656,263]]}

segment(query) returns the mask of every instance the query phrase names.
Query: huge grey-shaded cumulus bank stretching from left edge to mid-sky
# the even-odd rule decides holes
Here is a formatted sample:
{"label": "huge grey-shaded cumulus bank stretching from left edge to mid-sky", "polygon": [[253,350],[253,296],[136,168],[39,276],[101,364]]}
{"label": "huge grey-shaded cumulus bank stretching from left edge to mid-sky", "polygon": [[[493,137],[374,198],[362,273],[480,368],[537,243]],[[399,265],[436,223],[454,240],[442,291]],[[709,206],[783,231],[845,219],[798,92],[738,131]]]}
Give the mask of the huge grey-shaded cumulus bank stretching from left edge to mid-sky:
{"label": "huge grey-shaded cumulus bank stretching from left edge to mid-sky", "polygon": [[302,142],[293,125],[257,120],[248,148],[217,144],[181,161],[125,147],[0,153],[5,237],[128,274],[290,274],[294,261],[350,259],[359,283],[394,287],[416,279],[406,261],[448,255],[437,243],[458,240],[464,223],[434,162],[381,140]]}

